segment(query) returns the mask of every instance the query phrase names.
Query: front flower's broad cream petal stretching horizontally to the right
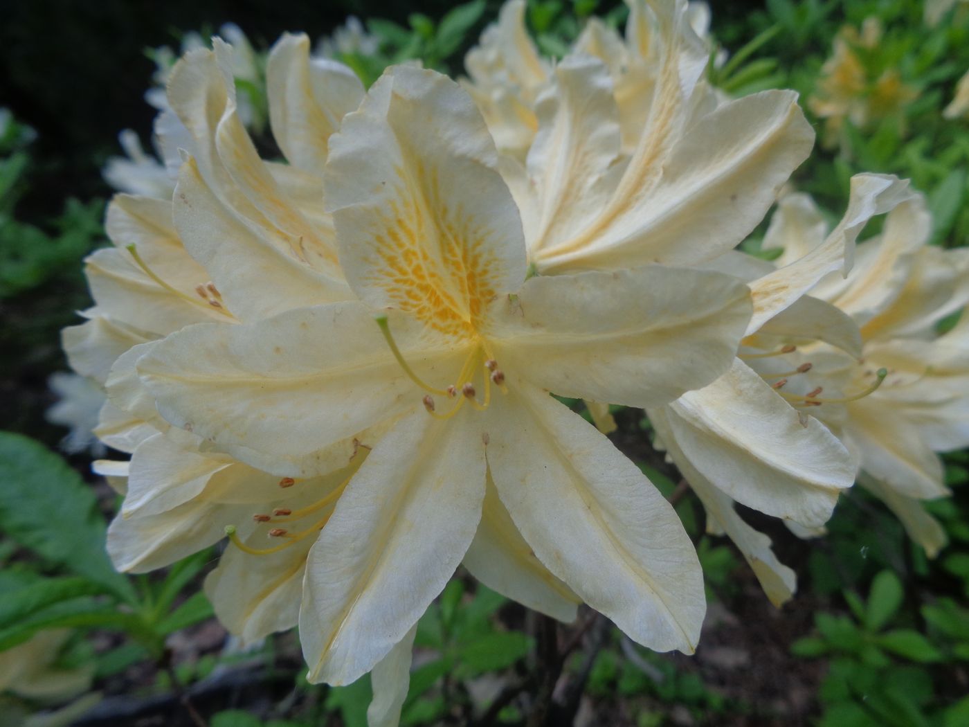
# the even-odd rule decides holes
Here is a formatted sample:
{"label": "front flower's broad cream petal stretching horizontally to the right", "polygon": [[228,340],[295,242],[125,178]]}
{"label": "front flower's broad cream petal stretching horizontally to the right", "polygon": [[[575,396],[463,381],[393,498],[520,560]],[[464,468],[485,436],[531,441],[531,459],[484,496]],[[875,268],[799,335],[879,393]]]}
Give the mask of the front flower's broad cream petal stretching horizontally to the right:
{"label": "front flower's broad cream petal stretching horizontally to the right", "polygon": [[555,394],[655,406],[730,367],[748,296],[729,275],[659,266],[532,277],[495,318],[496,356]]}

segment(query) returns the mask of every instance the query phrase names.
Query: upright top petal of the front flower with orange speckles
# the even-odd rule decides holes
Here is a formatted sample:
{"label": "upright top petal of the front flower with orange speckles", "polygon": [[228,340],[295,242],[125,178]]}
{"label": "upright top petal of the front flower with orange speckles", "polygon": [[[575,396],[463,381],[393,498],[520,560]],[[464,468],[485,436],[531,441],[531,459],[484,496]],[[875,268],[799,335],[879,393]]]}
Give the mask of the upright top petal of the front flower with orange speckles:
{"label": "upright top petal of the front flower with orange speckles", "polygon": [[445,76],[396,67],[330,140],[327,204],[361,300],[454,335],[525,277],[521,222],[485,122]]}

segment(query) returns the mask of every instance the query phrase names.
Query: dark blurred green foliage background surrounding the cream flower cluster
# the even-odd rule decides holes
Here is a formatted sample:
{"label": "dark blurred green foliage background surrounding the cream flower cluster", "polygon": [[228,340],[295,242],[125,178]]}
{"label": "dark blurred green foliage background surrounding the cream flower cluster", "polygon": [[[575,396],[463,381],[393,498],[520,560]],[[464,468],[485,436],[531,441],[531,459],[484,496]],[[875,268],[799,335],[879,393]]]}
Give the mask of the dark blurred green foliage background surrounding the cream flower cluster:
{"label": "dark blurred green foliage background surrounding the cream flower cluster", "polygon": [[[932,243],[954,247],[969,241],[969,121],[964,112],[946,117],[943,111],[969,71],[969,6],[929,5],[934,10],[918,0],[711,2],[716,51],[711,58],[720,53],[723,60],[711,62],[710,77],[734,95],[797,89],[819,142],[794,182],[829,217],[840,215],[851,174],[899,174],[913,178],[928,197],[935,219]],[[186,39],[208,38],[232,22],[252,47],[265,51],[283,31],[303,31],[314,44],[328,39],[327,52],[367,82],[387,63],[410,58],[460,75],[464,53],[499,8],[493,0],[459,9],[448,2],[404,0],[0,0],[0,429],[38,443],[29,466],[17,470],[23,482],[43,488],[51,478],[71,480],[79,508],[90,503],[78,492],[97,493],[101,516],[83,538],[103,538],[116,502],[90,473],[84,432],[72,438],[63,424],[77,427],[77,419],[48,413],[58,392],[71,387],[57,378],[67,370],[59,332],[77,324],[77,311],[90,305],[82,259],[109,244],[103,215],[115,190],[104,170],[109,160],[124,156],[118,135],[133,130],[144,152],[152,153],[157,109],[145,92],[158,85]],[[621,3],[542,0],[529,3],[528,23],[543,52],[561,55],[593,14],[618,27],[625,19]],[[359,24],[346,26],[349,16]],[[878,26],[872,43],[861,38],[865,22]],[[356,28],[345,33],[348,46],[333,35],[341,27]],[[852,47],[862,79],[859,88],[840,91],[855,93],[866,105],[864,114],[847,120],[832,116],[823,103],[812,104],[830,101],[839,91],[825,80],[838,37],[858,41]],[[171,48],[171,57],[162,47]],[[248,90],[258,109],[258,82]],[[272,142],[258,118],[253,131],[271,157]],[[763,226],[752,252],[761,235]],[[616,444],[671,493],[674,481],[665,462],[652,459],[642,445],[648,425],[641,412],[613,414],[619,424]],[[58,469],[61,456],[68,468]],[[2,453],[0,463],[9,464]],[[927,505],[950,543],[935,559],[863,492],[842,498],[828,537],[807,544],[778,522],[745,511],[749,522],[770,535],[779,558],[797,571],[797,597],[779,610],[766,601],[733,546],[704,533],[699,504],[684,498],[677,512],[698,543],[710,599],[704,648],[693,659],[651,654],[601,619],[583,621],[581,648],[566,667],[573,691],[578,684],[577,723],[969,725],[969,457],[953,453],[945,463],[954,496]],[[10,477],[14,470],[5,471]],[[24,569],[45,578],[74,576],[75,565],[63,549],[44,545],[57,537],[47,534],[50,522],[28,523],[41,533],[36,537],[15,537],[13,525],[2,524],[10,538],[0,539],[0,589],[7,571],[16,571],[17,578]],[[17,526],[29,529],[22,522]],[[195,597],[213,563],[211,553],[189,561],[157,576],[112,582],[121,603],[126,598],[142,603],[148,594],[157,605],[161,592],[172,615],[180,614],[163,614],[157,631],[139,638],[110,619],[71,626],[46,643],[28,642],[35,650],[20,652],[15,666],[8,661],[5,667],[3,650],[18,638],[10,625],[16,610],[0,605],[0,727],[197,725],[179,707],[180,688],[194,690],[203,722],[213,727],[365,724],[368,684],[309,687],[300,681],[292,634],[254,652],[234,650],[210,608]],[[16,613],[22,618],[30,610]],[[487,706],[528,673],[536,646],[532,618],[469,579],[456,579],[422,621],[419,643],[438,656],[418,660],[404,723],[522,723],[515,702],[520,693],[504,709]],[[164,645],[163,656],[145,644]],[[75,688],[25,695],[10,677],[10,669],[23,664],[74,675]],[[81,702],[83,709],[77,709]],[[95,716],[83,716],[91,709]]]}

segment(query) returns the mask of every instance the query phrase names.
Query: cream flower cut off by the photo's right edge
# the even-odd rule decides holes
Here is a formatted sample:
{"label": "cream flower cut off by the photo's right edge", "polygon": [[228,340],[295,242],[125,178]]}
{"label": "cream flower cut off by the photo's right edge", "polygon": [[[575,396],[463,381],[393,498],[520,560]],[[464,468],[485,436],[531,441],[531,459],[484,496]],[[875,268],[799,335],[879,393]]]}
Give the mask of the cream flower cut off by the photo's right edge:
{"label": "cream flower cut off by the photo's right edge", "polygon": [[[859,246],[847,279],[829,275],[812,291],[860,327],[857,356],[819,345],[784,365],[824,362],[797,377],[815,399],[803,403],[858,459],[860,484],[934,554],[944,534],[918,500],[948,494],[935,453],[969,444],[969,326],[937,335],[934,325],[969,301],[969,253],[928,245],[930,227],[922,198],[899,205],[882,235]],[[768,247],[816,249],[824,222],[809,198],[795,195],[771,230]]]}

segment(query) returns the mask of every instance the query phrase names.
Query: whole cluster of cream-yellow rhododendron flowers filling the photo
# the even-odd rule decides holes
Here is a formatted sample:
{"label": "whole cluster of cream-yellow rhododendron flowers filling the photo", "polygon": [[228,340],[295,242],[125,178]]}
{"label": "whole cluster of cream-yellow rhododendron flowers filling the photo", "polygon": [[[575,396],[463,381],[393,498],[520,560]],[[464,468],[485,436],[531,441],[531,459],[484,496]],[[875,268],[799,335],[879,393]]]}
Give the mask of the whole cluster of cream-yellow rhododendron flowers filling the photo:
{"label": "whole cluster of cream-yellow rhododendron flowers filling the photo", "polygon": [[[814,134],[789,91],[703,78],[703,17],[630,0],[552,64],[511,0],[455,83],[391,67],[369,90],[284,35],[266,61],[260,157],[237,49],[168,78],[171,195],[120,194],[95,300],[64,332],[107,392],[98,437],[131,455],[109,529],[142,572],[222,540],[205,581],[244,641],[299,625],[309,679],[373,672],[395,724],[415,624],[461,563],[571,620],[696,648],[694,547],[604,433],[553,398],[641,407],[775,603],[795,589],[734,503],[817,533],[856,481],[927,551],[935,452],[969,443],[969,257],[928,247],[907,182],[852,179],[828,231],[786,194]],[[696,26],[696,27],[695,27]],[[237,45],[237,44],[235,44]],[[161,136],[161,135],[160,135]],[[168,154],[167,156],[171,156]],[[885,215],[879,237],[856,249]]]}

